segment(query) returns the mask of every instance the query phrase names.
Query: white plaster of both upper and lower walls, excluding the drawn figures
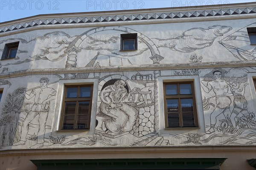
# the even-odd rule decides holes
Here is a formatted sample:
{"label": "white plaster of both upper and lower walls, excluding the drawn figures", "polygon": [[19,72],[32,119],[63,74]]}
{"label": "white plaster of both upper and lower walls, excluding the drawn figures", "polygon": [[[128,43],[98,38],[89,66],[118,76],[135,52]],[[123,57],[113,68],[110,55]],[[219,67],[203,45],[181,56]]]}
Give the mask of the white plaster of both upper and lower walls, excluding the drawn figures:
{"label": "white plaster of both upper and lower walls, excluding the drawn figures", "polygon": [[[221,27],[223,26],[223,27]],[[151,47],[154,52],[163,57],[160,60],[160,64],[172,64],[172,63],[193,63],[200,64],[204,62],[231,62],[231,61],[240,61],[244,60],[241,57],[236,58],[233,54],[234,51],[229,51],[219,42],[225,39],[227,36],[233,34],[244,34],[245,38],[247,37],[246,27],[255,27],[254,19],[243,19],[243,20],[216,20],[216,21],[201,21],[201,22],[187,22],[187,23],[159,23],[159,24],[148,24],[148,25],[129,25],[129,26],[106,26],[100,28],[65,28],[65,29],[41,29],[35,31],[28,31],[19,34],[12,34],[9,36],[0,37],[0,56],[2,56],[3,48],[6,43],[20,41],[19,52],[17,57],[14,59],[5,59],[0,60],[0,73],[6,75],[14,71],[21,71],[26,69],[38,69],[37,74],[26,76],[20,76],[18,73],[15,77],[5,78],[5,82],[1,82],[1,89],[4,89],[3,98],[1,99],[1,111],[3,110],[3,103],[9,102],[6,98],[7,94],[12,94],[17,90],[17,88],[26,88],[33,89],[40,86],[39,80],[42,77],[47,77],[50,79],[49,82],[55,82],[54,84],[49,85],[50,88],[57,91],[56,99],[51,101],[49,115],[47,118],[47,128],[45,132],[44,147],[45,148],[55,148],[55,147],[129,147],[129,146],[201,146],[201,145],[252,145],[255,144],[255,126],[247,127],[249,119],[251,117],[244,118],[247,119],[247,122],[244,122],[245,127],[241,127],[243,130],[237,130],[230,132],[229,134],[223,134],[223,131],[215,131],[215,133],[207,134],[210,126],[210,115],[214,110],[214,107],[217,105],[216,96],[213,91],[206,93],[202,86],[202,80],[204,76],[213,71],[214,68],[204,68],[204,69],[180,69],[180,70],[151,70],[151,71],[134,71],[131,67],[129,71],[118,71],[118,72],[98,72],[98,73],[81,73],[79,77],[73,77],[69,79],[65,77],[66,75],[56,69],[52,73],[44,73],[40,70],[43,68],[65,68],[68,55],[76,55],[76,65],[73,65],[76,68],[83,67],[95,67],[95,66],[108,66],[111,70],[113,66],[131,66],[131,65],[145,65],[153,64],[152,59],[149,57],[152,56],[152,51],[148,48]],[[232,28],[232,29],[231,29]],[[93,29],[92,31],[89,31]],[[118,31],[120,29],[121,31]],[[188,35],[188,30],[191,31],[189,37],[181,36]],[[224,30],[222,35],[221,31]],[[82,36],[76,43],[78,48],[77,53],[74,51],[70,52],[67,50],[68,45],[79,35],[83,34],[85,31],[88,36]],[[138,37],[148,42],[149,45],[146,45],[144,42],[141,42],[139,39],[138,50],[136,51],[119,51],[120,48],[120,34],[124,32],[137,33]],[[194,31],[194,32],[193,32]],[[215,31],[215,32],[214,32]],[[239,31],[244,31],[243,33]],[[218,36],[216,36],[218,35]],[[201,38],[200,42],[205,42],[207,45],[200,45],[200,42],[193,41],[195,37]],[[213,38],[208,39],[207,41],[203,40],[206,36],[213,36]],[[117,37],[117,38],[116,38]],[[239,39],[238,37],[236,37]],[[22,40],[21,40],[22,39]],[[244,50],[252,51],[255,48],[255,45],[250,45],[248,41],[239,40],[230,45],[239,45]],[[193,50],[184,48],[187,51],[184,51],[181,47],[191,47]],[[177,47],[177,48],[176,48]],[[204,47],[204,48],[201,48]],[[199,49],[200,48],[200,49]],[[79,51],[81,50],[81,51]],[[255,54],[255,53],[253,53]],[[238,54],[236,54],[238,55]],[[69,56],[69,57],[70,57]],[[248,60],[255,60],[255,58],[248,57]],[[73,58],[74,59],[74,58]],[[252,61],[254,62],[254,61]],[[214,64],[214,63],[213,63]],[[216,66],[218,67],[218,66]],[[66,67],[67,68],[67,67]],[[216,68],[219,69],[219,68]],[[222,68],[227,73],[233,74],[233,77],[236,77],[235,73],[241,74],[243,71],[234,71],[233,68]],[[255,121],[255,89],[253,86],[253,78],[256,77],[256,68],[255,67],[244,67],[241,68],[247,74],[247,86],[244,89],[244,98],[247,102],[247,110],[250,115],[254,116],[250,120]],[[140,75],[152,75],[152,81],[143,80],[136,81],[132,77]],[[73,74],[78,75],[78,74]],[[234,76],[235,75],[235,76]],[[143,118],[138,118],[134,124],[134,127],[131,131],[125,131],[125,134],[122,133],[120,136],[112,135],[112,137],[106,134],[96,133],[96,130],[99,130],[99,127],[95,127],[97,116],[100,117],[100,108],[101,99],[99,95],[101,93],[103,85],[111,79],[122,79],[124,80],[131,90],[133,88],[146,88],[147,85],[152,85],[151,88],[152,96],[154,98],[154,107],[146,106],[139,109],[139,116],[144,116],[144,111],[154,113],[154,123],[153,120],[148,123],[151,125],[151,128],[154,130],[148,130],[149,134],[143,134],[143,136],[136,136],[134,134],[142,134],[142,131],[145,131],[147,127],[142,124]],[[197,102],[197,115],[198,115],[198,128],[191,129],[165,129],[164,125],[164,108],[163,108],[163,82],[165,81],[183,81],[183,80],[192,80],[195,82],[195,92],[196,92],[196,102]],[[226,82],[229,82],[229,79],[225,79]],[[63,89],[64,85],[67,84],[76,84],[76,83],[93,83],[93,111],[91,114],[91,125],[90,130],[88,131],[63,131],[59,128],[59,119],[61,115],[61,104],[63,99]],[[12,85],[8,85],[12,84]],[[19,94],[20,92],[17,92]],[[20,94],[19,94],[20,95]],[[213,96],[213,97],[212,97]],[[215,96],[215,97],[214,97]],[[232,94],[231,94],[232,96]],[[202,108],[202,103],[204,102],[204,97],[210,98],[209,102],[214,104],[213,108],[204,110]],[[26,100],[29,102],[29,105],[34,104],[34,98]],[[12,100],[12,98],[11,98]],[[126,101],[127,102],[127,101]],[[230,103],[230,111],[232,112],[234,108],[234,102]],[[144,111],[143,111],[144,109]],[[148,111],[149,110],[149,111]],[[143,112],[143,113],[142,113]],[[18,113],[18,114],[17,114]],[[24,119],[26,119],[27,113],[23,111],[17,111],[16,118],[11,117],[10,120],[15,119],[16,124],[13,124],[9,119],[4,119],[6,116],[3,111],[0,115],[0,124],[2,132],[5,132],[5,128],[13,129],[14,133],[9,135],[9,143],[3,141],[2,144],[5,145],[1,149],[28,149],[33,144],[36,144],[35,140],[27,140],[26,144],[17,144],[17,146],[12,145],[15,142],[19,141],[20,129]],[[148,114],[146,113],[146,114]],[[250,116],[249,115],[249,116]],[[248,115],[247,115],[248,116]],[[36,118],[38,119],[38,118]],[[216,118],[217,119],[217,118]],[[223,114],[217,119],[217,127],[221,126],[221,120],[227,121],[227,117]],[[7,123],[8,122],[8,123]],[[38,124],[35,120],[31,122],[31,126],[28,134],[33,135],[37,133]],[[143,122],[146,124],[146,122]],[[8,124],[8,125],[7,125]],[[154,124],[154,125],[152,125]],[[224,125],[224,124],[223,124]],[[226,127],[226,126],[224,126]],[[230,127],[230,124],[228,125]],[[248,130],[249,129],[249,130]],[[136,133],[134,132],[136,131]],[[240,133],[241,132],[241,133]],[[105,135],[105,136],[104,136]],[[2,136],[6,134],[2,133]],[[51,142],[49,136],[53,136],[56,140],[57,138],[63,138],[62,142]],[[3,139],[3,138],[2,138]],[[230,141],[234,139],[235,142]]]}

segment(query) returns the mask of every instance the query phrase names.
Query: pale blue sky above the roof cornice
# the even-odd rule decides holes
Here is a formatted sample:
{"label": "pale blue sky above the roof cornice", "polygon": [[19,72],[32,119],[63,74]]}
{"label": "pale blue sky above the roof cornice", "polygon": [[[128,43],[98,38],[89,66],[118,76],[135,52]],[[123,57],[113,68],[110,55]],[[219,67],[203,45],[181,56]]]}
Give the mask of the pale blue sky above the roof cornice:
{"label": "pale blue sky above the roof cornice", "polygon": [[179,6],[193,9],[192,6],[218,4],[220,7],[227,7],[231,3],[245,2],[255,2],[255,0],[0,0],[0,23],[38,14]]}

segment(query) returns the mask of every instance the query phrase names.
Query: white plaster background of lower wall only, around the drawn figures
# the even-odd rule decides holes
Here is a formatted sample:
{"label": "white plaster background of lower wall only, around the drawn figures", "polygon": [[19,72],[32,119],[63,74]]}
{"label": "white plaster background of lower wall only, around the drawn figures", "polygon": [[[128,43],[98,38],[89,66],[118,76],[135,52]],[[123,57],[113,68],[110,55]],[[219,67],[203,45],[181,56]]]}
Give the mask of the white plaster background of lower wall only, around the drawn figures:
{"label": "white plaster background of lower wall only, around the drawn figures", "polygon": [[[248,82],[244,91],[244,98],[247,101],[247,108],[244,110],[248,111],[248,114],[245,114],[244,118],[240,119],[240,124],[244,124],[244,127],[240,127],[234,131],[223,131],[227,130],[227,128],[231,128],[231,124],[228,124],[227,127],[222,125],[221,121],[228,122],[228,118],[225,116],[225,113],[221,113],[216,117],[217,123],[215,126],[214,133],[206,133],[209,130],[210,124],[210,115],[214,108],[211,106],[210,109],[203,109],[204,105],[204,97],[209,98],[212,97],[209,102],[214,104],[216,107],[216,96],[213,91],[206,93],[200,86],[202,86],[202,80],[204,80],[204,76],[211,73],[214,69],[226,71],[227,74],[246,74],[247,78],[245,82]],[[177,75],[177,73],[183,73],[184,71],[198,71],[198,75]],[[17,98],[10,98],[5,96],[7,94],[21,95],[17,92],[17,88],[23,87],[29,90],[33,88],[40,88],[39,80],[42,77],[49,78],[49,88],[53,88],[57,91],[55,99],[50,102],[50,109],[48,113],[48,119],[46,122],[46,132],[44,137],[44,146],[43,148],[55,148],[55,147],[129,147],[129,146],[215,146],[215,145],[252,145],[255,142],[255,125],[248,123],[255,122],[255,89],[253,86],[252,79],[256,77],[256,68],[255,67],[244,67],[244,68],[206,68],[206,69],[190,69],[190,70],[162,70],[162,71],[127,71],[127,72],[102,72],[102,73],[90,73],[87,79],[59,79],[57,75],[27,75],[23,77],[13,77],[9,79],[5,79],[9,81],[12,85],[9,87],[6,85],[1,85],[0,88],[4,88],[4,97],[1,100],[2,105],[8,104],[10,101]],[[234,72],[235,71],[235,72]],[[240,72],[239,72],[240,71]],[[154,80],[154,74],[158,75],[157,79]],[[153,75],[153,80],[132,80],[131,77],[135,74],[151,74]],[[63,76],[62,74],[60,74]],[[225,77],[223,77],[224,79]],[[154,131],[148,131],[148,134],[144,134],[143,136],[137,135],[141,134],[141,130],[139,127],[142,125],[142,122],[134,122],[134,127],[132,127],[131,131],[122,131],[122,133],[109,134],[99,132],[100,126],[96,126],[96,119],[102,116],[102,112],[100,104],[102,100],[99,98],[99,94],[102,91],[103,85],[106,82],[112,79],[122,79],[124,80],[129,87],[134,89],[134,87],[143,88],[148,85],[152,85],[150,90],[152,91],[152,96],[154,99],[154,109],[150,109],[150,113],[154,113]],[[172,81],[187,81],[192,80],[195,83],[195,95],[196,95],[196,103],[197,103],[197,115],[198,115],[198,128],[172,128],[165,129],[164,125],[164,109],[163,109],[163,82],[172,82]],[[230,82],[229,79],[225,79],[226,82]],[[51,84],[54,82],[53,84]],[[86,84],[93,83],[93,110],[91,114],[91,124],[90,130],[60,130],[59,121],[61,116],[61,104],[63,100],[63,89],[64,85],[71,84]],[[111,85],[111,84],[109,84]],[[106,87],[106,86],[105,86]],[[154,90],[153,90],[154,89]],[[16,92],[15,92],[16,91]],[[155,95],[156,93],[156,95]],[[230,98],[232,99],[232,94],[230,94]],[[149,101],[149,100],[148,100]],[[34,98],[26,100],[28,102],[29,108],[35,103]],[[129,100],[124,100],[123,103],[129,103]],[[138,102],[137,102],[138,103]],[[136,104],[136,102],[135,102]],[[8,104],[9,105],[9,104]],[[15,103],[13,105],[13,109],[17,108],[18,105],[24,105]],[[137,107],[136,105],[134,106]],[[142,106],[142,108],[145,106]],[[152,107],[150,105],[150,107]],[[232,112],[235,107],[235,103],[230,103],[229,110]],[[29,109],[27,108],[27,109]],[[1,108],[2,109],[2,108]],[[148,109],[148,108],[146,108]],[[141,110],[141,109],[140,109]],[[19,141],[20,138],[20,129],[23,124],[24,119],[26,119],[27,113],[24,112],[24,109],[20,109],[16,111],[18,117],[12,117],[14,113],[10,111],[10,113],[6,114],[4,112],[0,115],[1,121],[1,139],[6,139],[6,136],[10,138],[9,142],[6,143],[6,140],[3,140],[1,149],[28,149],[32,145],[36,144],[36,140],[32,140],[33,134],[36,135],[38,132],[38,122],[37,117],[29,123],[29,132],[27,135],[26,144],[18,144],[13,145],[15,142]],[[15,113],[16,113],[15,112]],[[117,111],[116,114],[119,112]],[[130,112],[126,112],[128,115]],[[138,114],[139,118],[142,114]],[[12,121],[7,120],[7,117],[11,116]],[[248,117],[249,116],[249,117]],[[253,116],[253,117],[250,117]],[[252,118],[252,119],[251,119]],[[144,118],[143,118],[144,119]],[[247,119],[247,122],[245,121]],[[244,121],[244,122],[241,122]],[[249,122],[250,121],[250,122]],[[17,124],[13,123],[16,122]],[[145,123],[147,124],[147,123]],[[95,127],[96,126],[96,127]],[[218,131],[217,127],[221,127],[222,130]],[[6,130],[12,129],[13,133],[4,133]],[[232,128],[231,128],[232,129]],[[98,130],[98,132],[97,132]],[[136,131],[137,130],[137,131]],[[136,131],[137,133],[134,133]],[[224,134],[225,133],[225,134]],[[55,143],[49,137],[52,136],[55,138]],[[30,139],[29,139],[30,138]],[[57,139],[63,139],[62,141],[58,141]],[[57,141],[57,142],[56,142]],[[7,141],[8,142],[8,141]]]}

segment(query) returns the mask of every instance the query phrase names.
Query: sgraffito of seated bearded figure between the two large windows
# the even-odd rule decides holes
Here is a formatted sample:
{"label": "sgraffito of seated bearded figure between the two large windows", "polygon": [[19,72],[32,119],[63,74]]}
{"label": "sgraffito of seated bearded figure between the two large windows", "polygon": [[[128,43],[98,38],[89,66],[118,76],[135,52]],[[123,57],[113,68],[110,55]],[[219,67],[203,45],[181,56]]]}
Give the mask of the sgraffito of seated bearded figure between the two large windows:
{"label": "sgraffito of seated bearded figure between the two large windows", "polygon": [[143,74],[139,79],[137,74],[137,79],[123,80],[124,76],[119,75],[119,79],[104,81],[99,93],[96,133],[113,137],[131,133],[141,137],[154,132],[154,81],[151,76]]}

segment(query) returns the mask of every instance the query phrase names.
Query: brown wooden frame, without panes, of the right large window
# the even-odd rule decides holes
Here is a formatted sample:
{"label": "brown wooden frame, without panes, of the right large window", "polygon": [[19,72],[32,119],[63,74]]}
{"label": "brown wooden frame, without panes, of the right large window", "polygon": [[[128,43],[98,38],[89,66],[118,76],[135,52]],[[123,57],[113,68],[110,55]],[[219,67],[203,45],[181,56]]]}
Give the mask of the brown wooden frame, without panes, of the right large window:
{"label": "brown wooden frame, without panes, of the right large window", "polygon": [[[166,95],[166,85],[177,85],[177,95]],[[180,94],[180,84],[191,84],[191,90],[192,94]],[[199,127],[198,126],[198,115],[197,115],[197,107],[196,107],[196,101],[195,101],[195,87],[193,81],[185,81],[185,82],[164,82],[163,83],[163,102],[164,102],[164,116],[165,116],[165,128],[190,128],[189,126],[183,126],[183,119],[182,119],[182,111],[181,111],[181,102],[180,99],[184,98],[192,98],[193,99],[193,110],[194,110],[194,121],[195,126],[190,127]],[[167,114],[167,99],[178,99],[178,112],[179,112],[179,127],[168,127],[168,114]]]}

